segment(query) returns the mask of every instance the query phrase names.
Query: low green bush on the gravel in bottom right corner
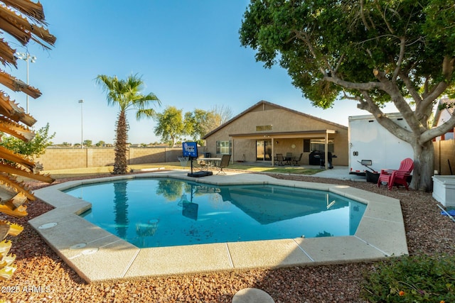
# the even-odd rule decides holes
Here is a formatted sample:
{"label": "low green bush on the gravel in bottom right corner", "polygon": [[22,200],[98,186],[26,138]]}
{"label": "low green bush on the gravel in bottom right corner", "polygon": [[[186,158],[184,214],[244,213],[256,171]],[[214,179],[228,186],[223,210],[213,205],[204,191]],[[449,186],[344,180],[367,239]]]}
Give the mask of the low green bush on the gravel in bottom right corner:
{"label": "low green bush on the gravel in bottom right corner", "polygon": [[455,302],[455,257],[402,257],[365,273],[368,302]]}

